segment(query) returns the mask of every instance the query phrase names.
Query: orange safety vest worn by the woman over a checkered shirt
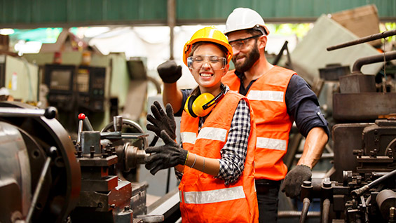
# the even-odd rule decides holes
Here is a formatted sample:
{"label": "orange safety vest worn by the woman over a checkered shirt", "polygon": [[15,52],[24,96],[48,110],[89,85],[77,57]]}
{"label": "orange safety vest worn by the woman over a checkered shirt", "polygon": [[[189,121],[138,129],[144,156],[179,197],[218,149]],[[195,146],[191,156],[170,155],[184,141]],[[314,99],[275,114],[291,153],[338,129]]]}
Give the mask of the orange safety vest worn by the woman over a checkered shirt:
{"label": "orange safety vest worn by the woman over a checkered shirt", "polygon": [[[199,119],[183,112],[180,132],[183,148],[206,158],[221,158],[233,115],[240,100],[246,97],[229,90],[215,105],[198,132]],[[250,105],[249,105],[250,107]],[[250,109],[252,114],[252,109]],[[224,180],[184,165],[179,184],[182,222],[258,222],[259,209],[254,187],[254,151],[256,128],[250,121],[245,169],[236,182]]]}

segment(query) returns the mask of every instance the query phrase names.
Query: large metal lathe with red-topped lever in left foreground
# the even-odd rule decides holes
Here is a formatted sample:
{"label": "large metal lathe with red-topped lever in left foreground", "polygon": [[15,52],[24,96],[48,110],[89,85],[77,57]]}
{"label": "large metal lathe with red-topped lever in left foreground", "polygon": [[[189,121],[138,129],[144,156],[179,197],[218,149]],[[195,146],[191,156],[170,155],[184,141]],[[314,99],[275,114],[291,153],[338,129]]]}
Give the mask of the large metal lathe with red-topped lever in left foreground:
{"label": "large metal lathe with red-topped lever in left foreground", "polygon": [[0,102],[0,222],[163,221],[146,215],[148,185],[130,182],[146,156],[137,123],[115,116],[95,131],[80,114],[71,140],[55,115],[54,107]]}

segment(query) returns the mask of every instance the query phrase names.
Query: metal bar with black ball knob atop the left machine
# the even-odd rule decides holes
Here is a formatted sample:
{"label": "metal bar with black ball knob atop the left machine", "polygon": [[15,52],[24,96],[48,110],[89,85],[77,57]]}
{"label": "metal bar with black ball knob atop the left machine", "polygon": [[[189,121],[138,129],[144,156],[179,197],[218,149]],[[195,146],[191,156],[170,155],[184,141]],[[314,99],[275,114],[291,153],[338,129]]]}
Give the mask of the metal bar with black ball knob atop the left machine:
{"label": "metal bar with black ball knob atop the left machine", "polygon": [[47,119],[55,118],[57,109],[48,107],[46,109],[21,109],[14,107],[0,107],[0,116],[4,117],[39,117],[45,116]]}

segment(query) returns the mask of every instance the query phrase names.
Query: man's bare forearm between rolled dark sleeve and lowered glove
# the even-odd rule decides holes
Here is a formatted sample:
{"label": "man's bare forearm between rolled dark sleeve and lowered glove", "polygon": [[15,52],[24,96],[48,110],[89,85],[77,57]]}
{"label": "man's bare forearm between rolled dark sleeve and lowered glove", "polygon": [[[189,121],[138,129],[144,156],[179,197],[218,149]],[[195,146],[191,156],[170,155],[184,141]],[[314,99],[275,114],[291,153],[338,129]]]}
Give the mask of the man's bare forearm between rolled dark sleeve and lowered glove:
{"label": "man's bare forearm between rolled dark sleeve and lowered glove", "polygon": [[322,156],[323,148],[327,144],[327,134],[321,127],[312,128],[306,137],[303,154],[297,165],[306,165],[312,169]]}

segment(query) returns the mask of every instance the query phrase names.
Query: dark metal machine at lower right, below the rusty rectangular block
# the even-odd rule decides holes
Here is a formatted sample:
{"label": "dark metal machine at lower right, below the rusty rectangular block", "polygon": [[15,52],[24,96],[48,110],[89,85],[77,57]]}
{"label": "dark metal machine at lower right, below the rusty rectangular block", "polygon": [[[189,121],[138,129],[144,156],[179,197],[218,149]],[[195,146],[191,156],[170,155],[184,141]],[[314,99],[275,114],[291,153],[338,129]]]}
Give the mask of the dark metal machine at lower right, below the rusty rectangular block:
{"label": "dark metal machine at lower right, below the rusty rectangular block", "polygon": [[334,166],[342,175],[303,182],[300,222],[314,198],[320,198],[323,223],[396,222],[396,119],[339,124],[333,134],[340,140]]}

